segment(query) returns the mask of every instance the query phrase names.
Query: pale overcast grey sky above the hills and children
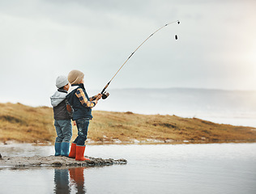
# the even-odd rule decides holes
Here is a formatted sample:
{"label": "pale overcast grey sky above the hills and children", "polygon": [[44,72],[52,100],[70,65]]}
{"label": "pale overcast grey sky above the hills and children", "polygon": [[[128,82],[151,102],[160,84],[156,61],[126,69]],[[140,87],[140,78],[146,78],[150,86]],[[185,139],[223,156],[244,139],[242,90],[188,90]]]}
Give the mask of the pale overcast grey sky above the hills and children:
{"label": "pale overcast grey sky above the hills and children", "polygon": [[254,0],[0,0],[0,102],[49,106],[57,76],[74,69],[101,91],[177,19],[109,88],[255,90],[255,10]]}

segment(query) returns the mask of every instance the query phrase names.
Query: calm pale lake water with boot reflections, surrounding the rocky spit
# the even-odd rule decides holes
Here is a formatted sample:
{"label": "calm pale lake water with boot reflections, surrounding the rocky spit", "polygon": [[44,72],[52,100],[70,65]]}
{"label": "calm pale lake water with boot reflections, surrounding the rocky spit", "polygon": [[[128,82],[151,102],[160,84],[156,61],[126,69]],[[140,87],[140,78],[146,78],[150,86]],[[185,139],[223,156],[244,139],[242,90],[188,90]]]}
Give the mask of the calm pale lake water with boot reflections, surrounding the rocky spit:
{"label": "calm pale lake water with boot reflections, surrounding the rocky spit", "polygon": [[[0,168],[0,193],[256,193],[256,143],[87,146],[126,158],[92,168]],[[3,156],[53,154],[53,146],[0,146]]]}

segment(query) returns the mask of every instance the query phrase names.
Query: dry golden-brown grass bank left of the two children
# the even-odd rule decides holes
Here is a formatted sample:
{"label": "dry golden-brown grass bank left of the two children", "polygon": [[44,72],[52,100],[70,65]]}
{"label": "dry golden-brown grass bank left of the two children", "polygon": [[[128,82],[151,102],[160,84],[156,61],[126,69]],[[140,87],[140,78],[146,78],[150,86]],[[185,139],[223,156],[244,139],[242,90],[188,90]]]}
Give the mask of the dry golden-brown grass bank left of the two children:
{"label": "dry golden-brown grass bank left of the two children", "polygon": [[53,111],[21,103],[0,103],[0,141],[53,142]]}

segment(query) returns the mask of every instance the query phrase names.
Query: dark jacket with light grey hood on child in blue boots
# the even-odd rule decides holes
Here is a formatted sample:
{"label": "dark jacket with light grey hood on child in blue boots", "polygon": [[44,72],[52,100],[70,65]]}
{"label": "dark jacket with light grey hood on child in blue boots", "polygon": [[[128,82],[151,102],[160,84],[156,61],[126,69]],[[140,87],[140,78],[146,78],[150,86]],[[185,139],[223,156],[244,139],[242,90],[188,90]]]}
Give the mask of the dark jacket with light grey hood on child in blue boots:
{"label": "dark jacket with light grey hood on child in blue boots", "polygon": [[66,109],[68,105],[66,95],[67,91],[58,89],[58,91],[50,97],[55,120],[70,120],[72,118],[72,112],[68,112]]}

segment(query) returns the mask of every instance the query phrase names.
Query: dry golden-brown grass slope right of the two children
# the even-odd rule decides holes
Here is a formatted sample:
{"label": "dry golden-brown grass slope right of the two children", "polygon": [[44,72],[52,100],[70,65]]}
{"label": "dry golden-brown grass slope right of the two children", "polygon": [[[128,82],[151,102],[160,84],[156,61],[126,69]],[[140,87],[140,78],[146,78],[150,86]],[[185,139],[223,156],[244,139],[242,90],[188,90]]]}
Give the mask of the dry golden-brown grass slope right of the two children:
{"label": "dry golden-brown grass slope right of the two children", "polygon": [[251,127],[132,112],[94,112],[88,136],[94,141],[256,141],[256,131]]}

